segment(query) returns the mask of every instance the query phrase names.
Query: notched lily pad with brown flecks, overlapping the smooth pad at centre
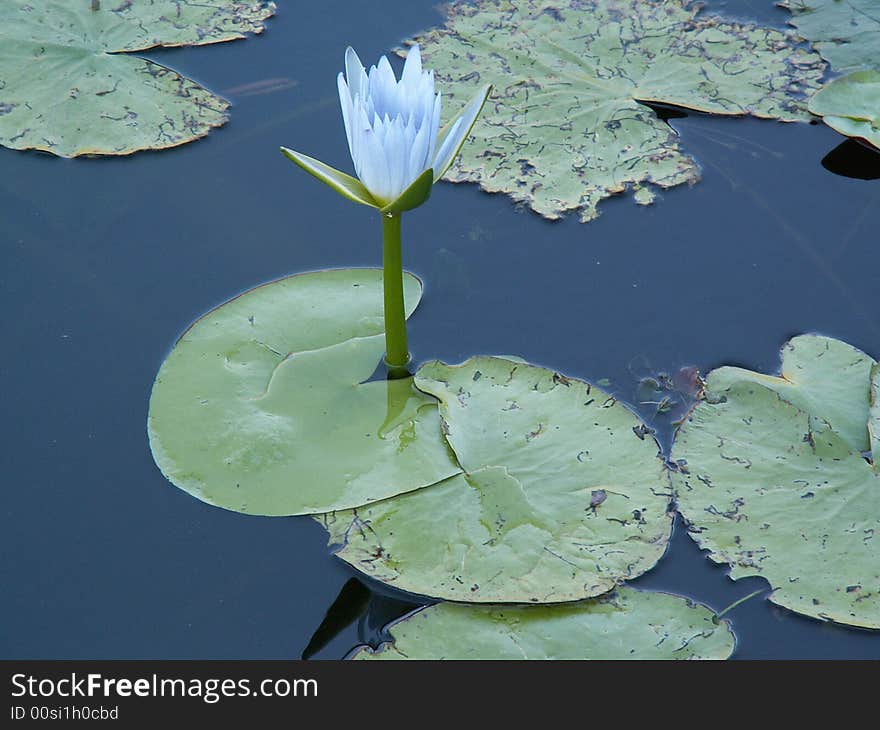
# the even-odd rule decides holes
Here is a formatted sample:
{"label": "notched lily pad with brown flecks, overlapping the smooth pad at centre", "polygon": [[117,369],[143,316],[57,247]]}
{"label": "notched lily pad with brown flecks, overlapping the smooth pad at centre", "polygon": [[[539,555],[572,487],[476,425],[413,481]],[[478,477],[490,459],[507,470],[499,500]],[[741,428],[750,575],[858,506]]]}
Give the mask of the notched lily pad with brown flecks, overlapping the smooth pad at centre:
{"label": "notched lily pad with brown flecks, overlapping the smooth pad at centre", "polygon": [[465,470],[440,484],[324,515],[337,555],[372,578],[437,598],[555,603],[649,570],[669,540],[658,446],[587,383],[496,357],[428,363]]}

